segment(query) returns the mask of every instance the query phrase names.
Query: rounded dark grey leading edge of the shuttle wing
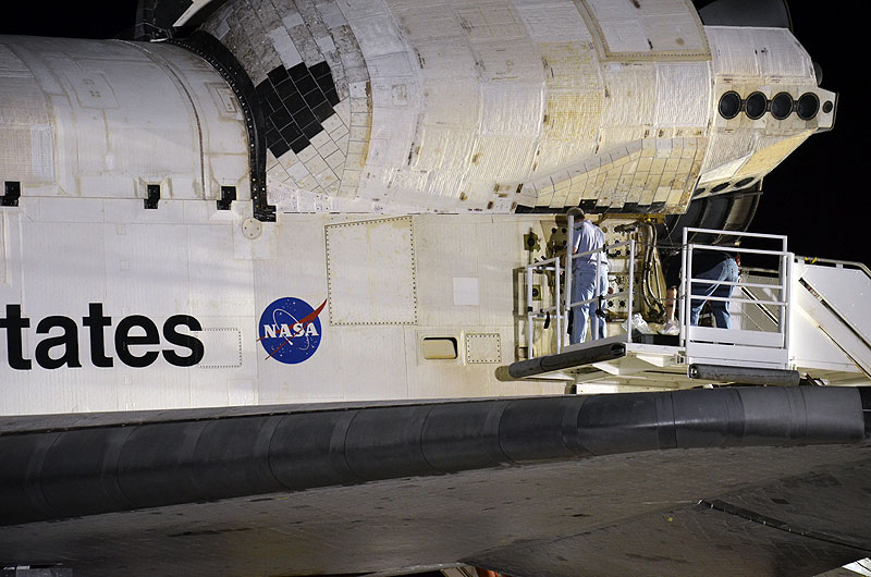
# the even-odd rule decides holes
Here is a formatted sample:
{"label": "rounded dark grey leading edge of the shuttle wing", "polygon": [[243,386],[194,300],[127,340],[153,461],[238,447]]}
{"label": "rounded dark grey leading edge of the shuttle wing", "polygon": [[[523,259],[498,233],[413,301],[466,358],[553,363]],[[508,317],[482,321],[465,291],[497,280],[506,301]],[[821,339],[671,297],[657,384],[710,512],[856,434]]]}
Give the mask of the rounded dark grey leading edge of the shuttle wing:
{"label": "rounded dark grey leading edge of the shuttle wing", "polygon": [[4,419],[0,525],[639,451],[863,443],[871,388],[120,416],[63,430],[26,417],[41,422],[30,431]]}

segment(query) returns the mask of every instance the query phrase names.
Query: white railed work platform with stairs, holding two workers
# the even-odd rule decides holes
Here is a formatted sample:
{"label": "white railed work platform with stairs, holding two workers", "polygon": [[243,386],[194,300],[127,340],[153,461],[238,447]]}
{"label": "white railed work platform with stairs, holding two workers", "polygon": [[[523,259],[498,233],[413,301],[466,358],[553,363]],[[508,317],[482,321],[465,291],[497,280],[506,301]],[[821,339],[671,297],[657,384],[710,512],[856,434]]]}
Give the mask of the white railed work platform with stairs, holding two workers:
{"label": "white railed work platform with stairs, holding two workers", "polygon": [[[774,250],[761,250],[684,243],[683,271],[692,270],[692,256],[701,250],[765,255],[778,262],[776,270],[741,269],[737,282],[717,281],[716,284],[733,286],[728,297],[696,299],[696,303],[726,300],[732,328],[690,326],[683,321],[678,335],[642,334],[634,330],[630,336],[626,322],[609,322],[609,332],[619,334],[567,344],[564,330],[567,310],[578,303],[557,298],[545,310],[533,311],[528,307],[526,319],[526,330],[531,335],[533,322],[543,315],[553,316],[556,321],[548,324],[561,334],[550,341],[555,345],[543,354],[532,352],[529,358],[512,364],[507,367],[508,375],[513,379],[556,379],[577,384],[578,389],[593,383],[624,390],[729,383],[790,385],[799,384],[801,379],[810,384],[871,382],[871,302],[867,298],[871,294],[871,271],[867,267],[795,257],[786,250],[783,236],[701,229],[687,232],[752,236],[780,245]],[[634,245],[629,245],[629,258],[635,258],[634,250]],[[533,265],[529,270],[541,265],[551,262]],[[559,273],[560,260],[552,259],[551,266]],[[692,283],[702,281],[682,273],[679,318],[690,317],[691,299],[684,295],[690,293],[688,287]],[[627,292],[631,295],[634,291],[630,282]],[[571,294],[568,285],[562,291],[562,295],[567,294]],[[602,297],[596,295],[596,298],[601,306]],[[635,312],[633,300],[629,296],[629,310]]]}

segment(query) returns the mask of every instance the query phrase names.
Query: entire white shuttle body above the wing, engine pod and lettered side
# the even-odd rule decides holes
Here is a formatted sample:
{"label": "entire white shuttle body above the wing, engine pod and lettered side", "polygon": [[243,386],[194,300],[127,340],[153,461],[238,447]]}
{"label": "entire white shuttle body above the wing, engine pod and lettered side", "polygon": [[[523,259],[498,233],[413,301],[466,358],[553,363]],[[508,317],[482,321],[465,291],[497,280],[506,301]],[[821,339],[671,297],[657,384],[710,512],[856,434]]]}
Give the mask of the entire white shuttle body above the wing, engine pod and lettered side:
{"label": "entire white shuttle body above the wing, engine pod and lettered side", "polygon": [[0,37],[2,414],[548,392],[492,375],[520,346],[523,234],[550,229],[523,213],[682,213],[836,108],[788,29],[690,2],[230,0],[176,24]]}

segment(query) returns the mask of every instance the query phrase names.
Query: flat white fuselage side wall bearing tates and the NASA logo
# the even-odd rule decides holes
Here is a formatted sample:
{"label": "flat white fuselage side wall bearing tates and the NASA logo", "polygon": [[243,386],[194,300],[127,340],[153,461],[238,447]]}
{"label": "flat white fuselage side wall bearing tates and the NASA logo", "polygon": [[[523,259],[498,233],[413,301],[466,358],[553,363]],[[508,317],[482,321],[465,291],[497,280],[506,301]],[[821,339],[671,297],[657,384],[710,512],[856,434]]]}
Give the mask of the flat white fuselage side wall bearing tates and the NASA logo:
{"label": "flat white fuselage side wall bearing tates and the NASA logo", "polygon": [[[355,221],[280,214],[277,223],[267,224],[260,236],[249,240],[241,232],[249,213],[246,204],[234,204],[229,218],[214,221],[205,210],[212,201],[176,200],[176,206],[161,204],[158,210],[146,211],[140,200],[112,199],[102,201],[116,205],[112,210],[71,211],[70,221],[63,222],[59,219],[68,202],[25,198],[20,208],[0,212],[8,270],[0,296],[5,304],[21,304],[29,319],[29,327],[22,330],[22,349],[32,361],[29,370],[13,369],[3,352],[0,414],[563,390],[561,383],[503,383],[495,378],[495,368],[515,358],[512,270],[526,258],[523,232],[538,225],[537,218],[420,216]],[[82,202],[88,206],[90,201]],[[197,209],[197,205],[204,207]],[[137,210],[147,212],[148,219],[138,222]],[[44,220],[42,214],[50,219]],[[257,333],[263,309],[285,296],[304,299],[312,307],[328,298],[328,235],[331,250],[343,248],[343,258],[331,257],[330,274],[359,280],[355,265],[365,258],[363,278],[391,288],[387,293],[345,293],[338,304],[330,297],[320,316],[322,340],[314,356],[297,365],[268,358]],[[270,243],[269,249],[256,248],[263,242]],[[481,298],[478,306],[455,305],[454,277],[442,272],[449,269],[463,273],[462,279],[476,280],[488,298]],[[395,305],[407,295],[404,291],[414,286],[402,281],[403,271],[408,275],[414,271],[419,277],[416,282],[428,285],[417,295],[417,318],[404,317],[412,308],[379,309]],[[349,296],[355,299],[354,307],[346,306]],[[90,332],[84,323],[89,303],[101,304],[103,314],[111,317],[105,329],[111,368],[91,361]],[[343,319],[343,315],[364,312],[368,317],[357,320],[367,323],[331,321],[333,307]],[[5,308],[0,314],[5,316]],[[57,329],[39,334],[36,327],[57,315],[76,324],[75,346],[82,367],[48,369],[35,358],[40,342],[59,335]],[[167,342],[161,328],[173,315],[194,317],[203,327],[193,333],[204,346],[201,361],[176,367],[159,356],[144,368],[126,366],[116,354],[113,336],[121,320],[133,315],[154,321],[161,341],[160,345],[132,345],[136,355],[163,349],[185,354],[185,348]],[[458,358],[422,359],[419,342],[426,334],[454,336]],[[57,357],[64,351],[68,348],[56,346],[52,354]]]}

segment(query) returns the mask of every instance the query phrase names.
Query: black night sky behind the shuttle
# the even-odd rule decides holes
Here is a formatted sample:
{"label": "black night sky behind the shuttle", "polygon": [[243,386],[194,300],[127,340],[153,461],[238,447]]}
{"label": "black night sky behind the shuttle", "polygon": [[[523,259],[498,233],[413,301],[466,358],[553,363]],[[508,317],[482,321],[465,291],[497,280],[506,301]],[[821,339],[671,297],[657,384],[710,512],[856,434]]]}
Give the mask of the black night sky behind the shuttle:
{"label": "black night sky behind the shuttle", "polygon": [[[852,5],[789,3],[793,33],[822,65],[822,86],[838,93],[837,120],[832,132],[811,136],[765,177],[750,230],[787,234],[798,255],[871,265],[871,243],[861,233],[871,224],[861,168],[871,125],[869,113],[859,110],[868,97],[859,87],[868,54],[859,39],[869,33]],[[19,3],[14,13],[11,8],[4,8],[0,34],[111,38],[133,25],[136,1]]]}

